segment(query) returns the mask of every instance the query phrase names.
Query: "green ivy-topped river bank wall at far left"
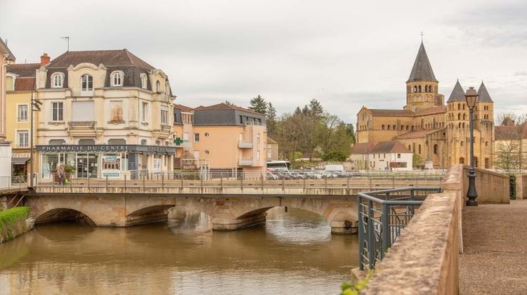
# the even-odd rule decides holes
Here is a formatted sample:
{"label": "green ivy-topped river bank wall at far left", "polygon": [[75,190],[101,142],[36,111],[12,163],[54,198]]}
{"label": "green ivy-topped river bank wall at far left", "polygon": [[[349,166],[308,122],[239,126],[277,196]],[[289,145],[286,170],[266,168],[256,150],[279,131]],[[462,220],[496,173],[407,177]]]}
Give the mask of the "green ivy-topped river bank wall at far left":
{"label": "green ivy-topped river bank wall at far left", "polygon": [[14,207],[0,211],[0,243],[32,230],[34,222],[30,218],[30,208]]}

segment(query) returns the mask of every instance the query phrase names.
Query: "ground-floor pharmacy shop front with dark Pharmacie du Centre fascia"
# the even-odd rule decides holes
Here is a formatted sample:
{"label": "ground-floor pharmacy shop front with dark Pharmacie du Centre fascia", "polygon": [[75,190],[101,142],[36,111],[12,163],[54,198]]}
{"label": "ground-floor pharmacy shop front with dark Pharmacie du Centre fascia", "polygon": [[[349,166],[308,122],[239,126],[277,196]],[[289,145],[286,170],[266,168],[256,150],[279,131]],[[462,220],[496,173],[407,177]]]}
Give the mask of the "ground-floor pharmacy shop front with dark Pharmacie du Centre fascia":
{"label": "ground-floor pharmacy shop front with dark Pharmacie du Centre fascia", "polygon": [[159,145],[37,145],[39,181],[55,179],[60,165],[71,178],[138,178],[173,171],[176,147]]}

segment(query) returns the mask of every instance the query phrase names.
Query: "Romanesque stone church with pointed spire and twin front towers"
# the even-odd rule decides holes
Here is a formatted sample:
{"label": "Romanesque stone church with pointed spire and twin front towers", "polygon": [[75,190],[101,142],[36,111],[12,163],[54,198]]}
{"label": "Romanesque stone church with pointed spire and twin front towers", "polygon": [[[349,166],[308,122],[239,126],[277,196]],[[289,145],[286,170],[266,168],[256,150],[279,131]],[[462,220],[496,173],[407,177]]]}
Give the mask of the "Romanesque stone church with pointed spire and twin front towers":
{"label": "Romanesque stone church with pointed spire and twin front towers", "polygon": [[[478,93],[474,160],[476,166],[492,168],[494,103],[483,82]],[[423,44],[406,81],[403,110],[363,107],[357,114],[356,130],[358,143],[399,140],[423,162],[431,161],[434,168],[469,163],[469,110],[464,90],[457,81],[445,105]]]}

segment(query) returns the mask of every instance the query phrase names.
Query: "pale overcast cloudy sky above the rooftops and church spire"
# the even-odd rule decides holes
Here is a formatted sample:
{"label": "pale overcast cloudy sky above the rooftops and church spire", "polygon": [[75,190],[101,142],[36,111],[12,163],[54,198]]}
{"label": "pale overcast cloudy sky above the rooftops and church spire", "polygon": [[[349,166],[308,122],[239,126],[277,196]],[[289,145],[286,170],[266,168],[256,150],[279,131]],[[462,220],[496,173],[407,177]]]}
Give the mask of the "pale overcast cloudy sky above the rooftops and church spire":
{"label": "pale overcast cloudy sky above the rooftops and church spire", "polygon": [[424,46],[450,96],[483,80],[499,112],[527,113],[527,1],[1,0],[17,63],[122,49],[168,74],[176,103],[261,95],[279,114],[312,98],[349,123],[363,105],[401,109]]}

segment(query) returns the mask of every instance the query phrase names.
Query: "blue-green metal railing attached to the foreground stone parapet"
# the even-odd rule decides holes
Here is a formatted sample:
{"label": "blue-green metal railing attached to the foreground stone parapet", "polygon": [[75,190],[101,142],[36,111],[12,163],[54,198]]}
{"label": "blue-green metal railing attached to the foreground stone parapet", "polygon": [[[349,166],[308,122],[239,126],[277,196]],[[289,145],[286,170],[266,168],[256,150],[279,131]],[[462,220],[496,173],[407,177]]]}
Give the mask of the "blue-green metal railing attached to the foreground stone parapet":
{"label": "blue-green metal railing attached to the foreground stone parapet", "polygon": [[396,188],[358,193],[360,270],[375,269],[430,192],[441,192],[441,188]]}

